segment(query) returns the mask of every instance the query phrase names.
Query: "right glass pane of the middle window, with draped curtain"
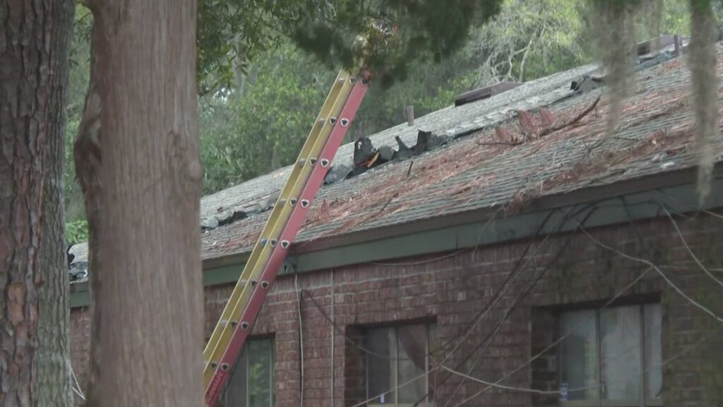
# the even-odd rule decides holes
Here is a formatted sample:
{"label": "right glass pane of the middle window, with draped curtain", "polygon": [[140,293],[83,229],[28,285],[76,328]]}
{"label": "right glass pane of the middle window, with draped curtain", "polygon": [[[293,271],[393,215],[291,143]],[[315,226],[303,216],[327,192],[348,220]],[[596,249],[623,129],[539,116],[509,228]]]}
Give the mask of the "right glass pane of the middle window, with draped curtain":
{"label": "right glass pane of the middle window, with draped curtain", "polygon": [[399,403],[414,404],[427,393],[427,380],[422,376],[427,363],[427,329],[424,325],[414,325],[400,327],[397,332]]}

